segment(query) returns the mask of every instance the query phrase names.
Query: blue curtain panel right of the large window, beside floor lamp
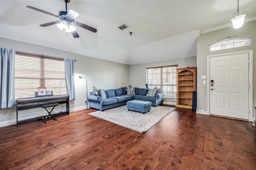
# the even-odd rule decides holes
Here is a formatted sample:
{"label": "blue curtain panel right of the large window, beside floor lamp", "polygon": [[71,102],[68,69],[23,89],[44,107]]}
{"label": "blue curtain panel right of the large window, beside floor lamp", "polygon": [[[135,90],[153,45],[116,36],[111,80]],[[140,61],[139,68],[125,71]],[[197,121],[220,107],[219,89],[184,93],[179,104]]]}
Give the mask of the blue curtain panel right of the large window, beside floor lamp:
{"label": "blue curtain panel right of the large window, beside floor lamp", "polygon": [[69,95],[69,100],[76,99],[75,93],[75,82],[74,82],[74,73],[75,73],[75,60],[64,58],[65,64],[65,79],[66,79],[66,88]]}

